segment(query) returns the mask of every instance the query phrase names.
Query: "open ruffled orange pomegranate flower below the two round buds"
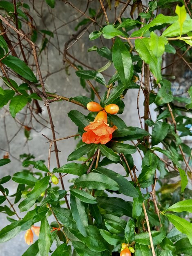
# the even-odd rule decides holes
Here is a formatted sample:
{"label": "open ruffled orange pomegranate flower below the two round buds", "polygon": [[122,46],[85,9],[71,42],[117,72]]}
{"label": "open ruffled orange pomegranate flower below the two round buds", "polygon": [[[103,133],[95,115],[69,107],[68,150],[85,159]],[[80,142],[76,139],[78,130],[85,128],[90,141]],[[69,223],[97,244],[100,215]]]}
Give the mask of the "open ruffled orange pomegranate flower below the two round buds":
{"label": "open ruffled orange pomegranate flower below the two round buds", "polygon": [[86,132],[83,133],[82,141],[90,144],[106,144],[112,139],[114,128],[107,124],[107,113],[105,110],[98,112],[93,122],[84,128]]}

